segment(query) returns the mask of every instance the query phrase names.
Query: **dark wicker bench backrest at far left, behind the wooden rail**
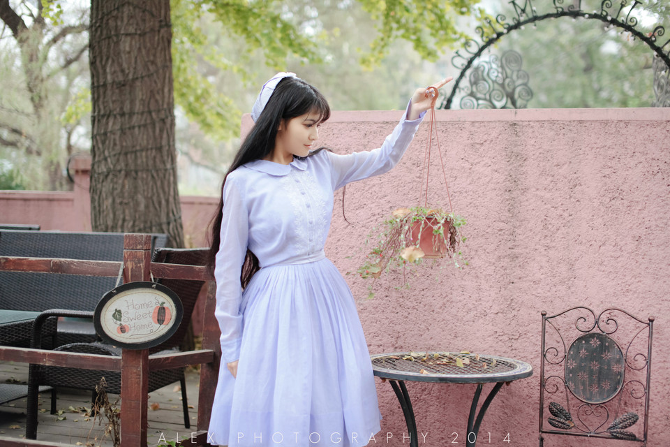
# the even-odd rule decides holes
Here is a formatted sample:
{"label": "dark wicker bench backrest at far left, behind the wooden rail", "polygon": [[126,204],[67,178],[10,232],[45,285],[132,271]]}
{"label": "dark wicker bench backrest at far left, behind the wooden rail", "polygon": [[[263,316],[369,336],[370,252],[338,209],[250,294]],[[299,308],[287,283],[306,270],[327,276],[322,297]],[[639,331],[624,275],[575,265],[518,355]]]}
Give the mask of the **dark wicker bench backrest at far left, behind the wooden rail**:
{"label": "dark wicker bench backrest at far left, behind the wooden rail", "polygon": [[[151,249],[167,235],[153,235]],[[0,256],[123,261],[124,233],[0,230]],[[93,311],[116,278],[72,274],[0,272],[0,309]]]}

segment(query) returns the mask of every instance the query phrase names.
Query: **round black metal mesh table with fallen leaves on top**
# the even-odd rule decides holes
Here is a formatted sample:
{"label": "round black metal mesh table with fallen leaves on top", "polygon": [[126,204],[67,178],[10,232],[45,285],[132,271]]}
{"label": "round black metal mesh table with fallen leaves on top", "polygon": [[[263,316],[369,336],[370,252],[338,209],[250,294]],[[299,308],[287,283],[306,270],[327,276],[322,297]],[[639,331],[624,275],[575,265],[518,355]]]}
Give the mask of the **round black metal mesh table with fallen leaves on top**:
{"label": "round black metal mesh table with fallen leaves on top", "polygon": [[[474,353],[386,353],[373,355],[371,360],[375,376],[387,379],[398,397],[410,434],[410,447],[418,447],[419,441],[417,422],[405,381],[477,383],[477,390],[475,390],[470,405],[468,431],[466,432],[466,446],[474,447],[477,443],[479,425],[482,423],[486,409],[489,408],[493,397],[498,394],[502,384],[533,374],[533,367],[521,360],[498,356],[479,356]],[[496,385],[486,396],[479,413],[475,414],[484,383],[496,383]]]}

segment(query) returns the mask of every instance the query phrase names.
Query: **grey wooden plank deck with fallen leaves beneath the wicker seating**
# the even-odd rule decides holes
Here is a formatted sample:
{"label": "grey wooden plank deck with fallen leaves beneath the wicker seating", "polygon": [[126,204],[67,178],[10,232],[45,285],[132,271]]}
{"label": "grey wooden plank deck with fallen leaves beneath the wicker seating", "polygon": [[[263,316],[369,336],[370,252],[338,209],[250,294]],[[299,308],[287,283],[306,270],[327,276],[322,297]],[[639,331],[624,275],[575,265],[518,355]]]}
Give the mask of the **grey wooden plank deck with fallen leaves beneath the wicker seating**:
{"label": "grey wooden plank deck with fallen leaves beneath the wicker seating", "polygon": [[[28,365],[14,362],[0,362],[0,383],[27,383]],[[149,447],[168,445],[169,441],[179,441],[196,431],[198,415],[198,388],[200,375],[193,369],[186,372],[186,390],[188,390],[189,416],[191,429],[184,427],[181,409],[181,389],[179,382],[150,393],[147,430]],[[37,439],[54,441],[77,446],[112,446],[109,437],[103,439],[104,424],[98,425],[98,419],[89,416],[91,393],[81,390],[59,390],[57,409],[61,415],[52,415],[51,393],[40,394],[40,413],[38,416]],[[118,395],[109,395],[114,404]],[[156,405],[157,404],[157,405]],[[120,402],[117,402],[120,408]],[[152,409],[152,406],[154,409]],[[0,405],[0,437],[24,439],[26,431],[26,398]],[[2,441],[0,441],[0,445]]]}

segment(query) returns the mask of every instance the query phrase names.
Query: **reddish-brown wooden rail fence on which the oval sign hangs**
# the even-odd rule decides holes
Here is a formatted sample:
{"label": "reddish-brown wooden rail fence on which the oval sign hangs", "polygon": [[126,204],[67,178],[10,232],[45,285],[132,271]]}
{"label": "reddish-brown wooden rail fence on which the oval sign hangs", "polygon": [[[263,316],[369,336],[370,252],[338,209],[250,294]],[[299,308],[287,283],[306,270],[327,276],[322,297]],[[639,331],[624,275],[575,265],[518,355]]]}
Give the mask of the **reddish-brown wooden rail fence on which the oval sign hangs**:
{"label": "reddish-brown wooden rail fence on which the oval sign hangs", "polygon": [[[147,235],[125,235],[124,258],[113,261],[77,261],[45,258],[24,258],[0,255],[0,272],[43,272],[70,275],[89,274],[98,277],[115,277],[123,271],[123,281],[149,281],[154,278],[186,281],[208,281],[207,299],[203,318],[202,349],[171,354],[149,356],[149,349],[124,349],[121,357],[101,356],[90,353],[44,351],[0,346],[0,361],[14,361],[50,367],[73,367],[77,369],[105,369],[121,374],[121,447],[147,445],[147,389],[149,373],[155,370],[172,369],[186,365],[201,365],[200,399],[198,402],[198,431],[179,443],[180,446],[207,446],[207,427],[214,389],[218,376],[221,350],[218,338],[221,332],[214,318],[216,287],[214,278],[202,266],[171,265],[151,262],[151,244]],[[176,261],[176,260],[175,260]],[[61,275],[54,275],[61,276]],[[167,284],[167,283],[165,283]],[[31,400],[31,399],[29,399]],[[34,403],[33,403],[34,404]],[[30,405],[30,402],[29,402]],[[29,433],[33,434],[33,433]],[[33,436],[34,437],[34,434]],[[0,444],[7,447],[55,446],[51,442],[9,439],[0,435]]]}

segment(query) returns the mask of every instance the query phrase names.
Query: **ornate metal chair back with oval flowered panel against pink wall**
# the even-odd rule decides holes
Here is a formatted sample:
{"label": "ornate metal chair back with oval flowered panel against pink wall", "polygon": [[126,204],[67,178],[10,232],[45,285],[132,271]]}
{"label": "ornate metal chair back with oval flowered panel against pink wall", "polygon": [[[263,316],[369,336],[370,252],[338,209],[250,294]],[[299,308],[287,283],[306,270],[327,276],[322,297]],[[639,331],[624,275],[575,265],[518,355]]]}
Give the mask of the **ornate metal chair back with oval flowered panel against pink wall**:
{"label": "ornate metal chair back with oval flowered panel against pink wall", "polygon": [[654,318],[588,307],[542,315],[540,432],[645,441]]}

